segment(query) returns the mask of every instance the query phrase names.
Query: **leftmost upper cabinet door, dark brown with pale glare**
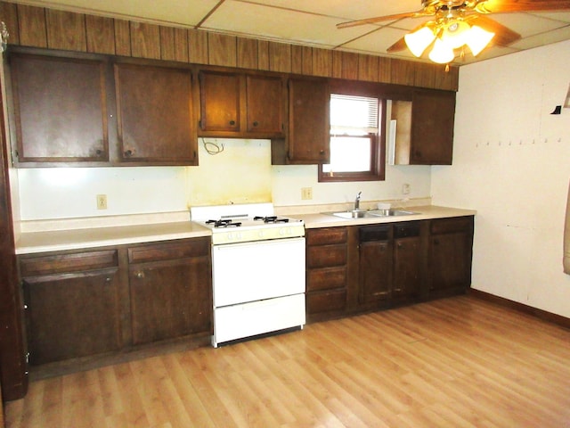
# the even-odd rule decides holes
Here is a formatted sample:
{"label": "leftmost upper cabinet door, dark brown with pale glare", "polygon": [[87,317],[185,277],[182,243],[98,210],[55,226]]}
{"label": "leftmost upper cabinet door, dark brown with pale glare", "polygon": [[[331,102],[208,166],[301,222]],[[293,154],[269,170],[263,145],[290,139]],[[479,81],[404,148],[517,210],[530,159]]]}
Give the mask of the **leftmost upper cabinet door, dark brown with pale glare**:
{"label": "leftmost upper cabinet door, dark brown with pale glare", "polygon": [[24,53],[9,63],[17,165],[108,163],[105,64]]}

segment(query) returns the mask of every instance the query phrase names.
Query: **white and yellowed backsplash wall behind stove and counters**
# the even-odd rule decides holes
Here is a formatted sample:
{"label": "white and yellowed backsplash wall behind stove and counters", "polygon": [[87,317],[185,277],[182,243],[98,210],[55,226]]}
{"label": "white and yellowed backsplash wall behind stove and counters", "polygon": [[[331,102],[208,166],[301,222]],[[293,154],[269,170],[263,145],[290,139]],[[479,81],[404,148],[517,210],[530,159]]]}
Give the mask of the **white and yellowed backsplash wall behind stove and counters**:
{"label": "white and yellowed backsplash wall behind stove and counters", "polygon": [[[276,206],[402,199],[430,195],[430,168],[387,167],[386,181],[318,183],[316,166],[271,165],[269,140],[208,138],[224,146],[208,154],[199,140],[199,167],[16,169],[20,183],[15,209],[21,220],[84,218],[188,210],[192,205],[273,202]],[[209,147],[209,145],[208,145]],[[215,149],[214,146],[210,149]],[[301,200],[301,187],[313,200]],[[107,210],[96,209],[106,194]]]}

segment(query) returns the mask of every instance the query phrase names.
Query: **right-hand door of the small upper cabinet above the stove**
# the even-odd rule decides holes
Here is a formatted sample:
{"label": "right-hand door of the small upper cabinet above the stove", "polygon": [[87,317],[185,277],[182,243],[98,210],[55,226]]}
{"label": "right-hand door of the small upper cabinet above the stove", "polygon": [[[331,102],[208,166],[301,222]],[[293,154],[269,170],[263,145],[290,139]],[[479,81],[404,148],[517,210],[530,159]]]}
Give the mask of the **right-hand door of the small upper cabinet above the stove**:
{"label": "right-hand door of the small upper cabinet above the stove", "polygon": [[268,76],[247,76],[248,132],[279,135],[283,132],[283,80]]}

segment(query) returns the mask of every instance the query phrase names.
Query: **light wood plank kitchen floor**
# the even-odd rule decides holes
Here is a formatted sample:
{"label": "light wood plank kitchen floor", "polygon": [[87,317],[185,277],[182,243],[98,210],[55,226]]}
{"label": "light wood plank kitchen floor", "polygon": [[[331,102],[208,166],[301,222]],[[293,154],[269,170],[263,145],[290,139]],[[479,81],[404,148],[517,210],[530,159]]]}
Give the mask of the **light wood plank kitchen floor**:
{"label": "light wood plank kitchen floor", "polygon": [[20,427],[568,427],[570,331],[460,296],[30,384]]}

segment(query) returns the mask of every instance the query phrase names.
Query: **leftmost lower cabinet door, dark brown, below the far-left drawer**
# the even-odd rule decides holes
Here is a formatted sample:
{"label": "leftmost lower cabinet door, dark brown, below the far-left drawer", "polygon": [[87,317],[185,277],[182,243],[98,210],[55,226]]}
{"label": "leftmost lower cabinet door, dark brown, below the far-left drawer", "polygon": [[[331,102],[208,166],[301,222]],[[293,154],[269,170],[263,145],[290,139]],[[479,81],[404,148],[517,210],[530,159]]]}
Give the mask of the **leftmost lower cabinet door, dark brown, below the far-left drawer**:
{"label": "leftmost lower cabinet door, dark brown, below the far-left drawer", "polygon": [[118,268],[24,279],[30,364],[118,350]]}

